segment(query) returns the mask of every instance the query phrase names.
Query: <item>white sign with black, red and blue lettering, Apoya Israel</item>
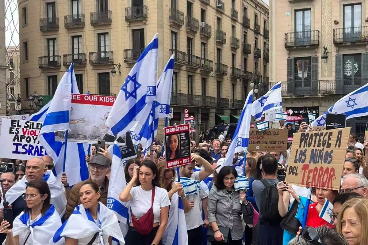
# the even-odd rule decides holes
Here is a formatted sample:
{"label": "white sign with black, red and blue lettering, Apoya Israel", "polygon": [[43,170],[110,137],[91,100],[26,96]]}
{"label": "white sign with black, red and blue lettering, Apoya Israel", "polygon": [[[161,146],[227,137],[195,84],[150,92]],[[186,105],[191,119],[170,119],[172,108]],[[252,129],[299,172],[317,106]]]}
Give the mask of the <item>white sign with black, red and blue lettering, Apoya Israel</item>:
{"label": "white sign with black, red and blue lettering, Apoya Israel", "polygon": [[42,123],[17,119],[3,119],[0,158],[29,160],[47,155],[39,143]]}

